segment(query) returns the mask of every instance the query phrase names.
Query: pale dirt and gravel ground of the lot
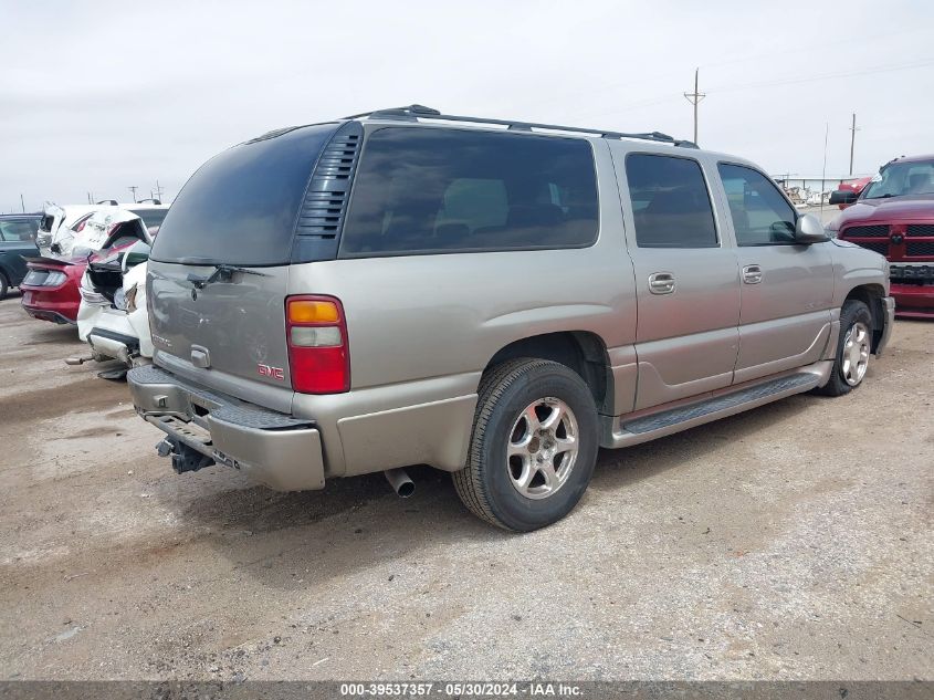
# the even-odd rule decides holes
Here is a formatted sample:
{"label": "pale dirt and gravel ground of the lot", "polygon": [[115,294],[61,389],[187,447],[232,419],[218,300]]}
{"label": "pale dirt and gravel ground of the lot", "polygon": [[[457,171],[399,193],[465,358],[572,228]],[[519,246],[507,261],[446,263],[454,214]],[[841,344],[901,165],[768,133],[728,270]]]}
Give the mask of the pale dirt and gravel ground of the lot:
{"label": "pale dirt and gravel ground of the lot", "polygon": [[934,679],[934,323],[854,394],[604,452],[491,529],[413,471],[176,476],[72,327],[0,302],[0,678]]}

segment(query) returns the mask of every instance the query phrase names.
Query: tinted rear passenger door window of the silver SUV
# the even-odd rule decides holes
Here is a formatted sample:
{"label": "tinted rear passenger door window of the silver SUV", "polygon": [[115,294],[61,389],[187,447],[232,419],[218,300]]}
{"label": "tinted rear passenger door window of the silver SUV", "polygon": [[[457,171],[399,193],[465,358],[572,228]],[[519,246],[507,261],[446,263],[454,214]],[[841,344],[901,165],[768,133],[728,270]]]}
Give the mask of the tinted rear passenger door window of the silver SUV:
{"label": "tinted rear passenger door window of the silver SUV", "polygon": [[713,207],[696,160],[630,154],[626,178],[639,248],[717,245]]}

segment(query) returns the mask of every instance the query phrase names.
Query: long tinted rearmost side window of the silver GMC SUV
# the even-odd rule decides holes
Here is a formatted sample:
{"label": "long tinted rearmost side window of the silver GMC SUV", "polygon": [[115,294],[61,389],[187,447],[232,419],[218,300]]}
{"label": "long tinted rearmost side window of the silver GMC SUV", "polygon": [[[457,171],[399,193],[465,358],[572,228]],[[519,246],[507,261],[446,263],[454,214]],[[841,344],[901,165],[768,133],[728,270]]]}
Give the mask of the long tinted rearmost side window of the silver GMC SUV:
{"label": "long tinted rearmost side window of the silver GMC SUV", "polygon": [[340,255],[573,248],[596,239],[587,142],[388,127],[364,147]]}

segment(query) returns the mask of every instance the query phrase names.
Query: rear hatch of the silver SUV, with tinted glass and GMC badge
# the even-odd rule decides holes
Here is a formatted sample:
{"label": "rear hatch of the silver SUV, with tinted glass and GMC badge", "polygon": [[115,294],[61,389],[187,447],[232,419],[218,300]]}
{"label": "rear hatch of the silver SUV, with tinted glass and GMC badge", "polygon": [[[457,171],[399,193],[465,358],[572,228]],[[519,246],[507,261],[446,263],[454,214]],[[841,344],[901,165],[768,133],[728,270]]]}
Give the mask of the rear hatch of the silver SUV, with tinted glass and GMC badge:
{"label": "rear hatch of the silver SUV, with tinted glass and GMC badge", "polygon": [[157,365],[291,411],[288,268],[336,254],[336,234],[312,230],[305,215],[322,189],[319,161],[327,160],[322,153],[339,140],[334,138],[339,126],[270,133],[216,156],[188,180],[149,259]]}

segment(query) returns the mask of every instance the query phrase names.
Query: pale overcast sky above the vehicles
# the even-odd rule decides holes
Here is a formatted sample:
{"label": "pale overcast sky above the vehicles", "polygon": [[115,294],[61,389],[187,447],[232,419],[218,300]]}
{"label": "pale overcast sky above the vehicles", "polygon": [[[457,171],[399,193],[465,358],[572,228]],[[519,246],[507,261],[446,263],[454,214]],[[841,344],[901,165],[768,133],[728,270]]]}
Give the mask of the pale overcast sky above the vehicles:
{"label": "pale overcast sky above the vehicles", "polygon": [[[934,152],[934,2],[0,0],[0,211],[174,197],[280,126],[418,102],[691,138],[773,175]],[[143,195],[145,192],[145,195]]]}

